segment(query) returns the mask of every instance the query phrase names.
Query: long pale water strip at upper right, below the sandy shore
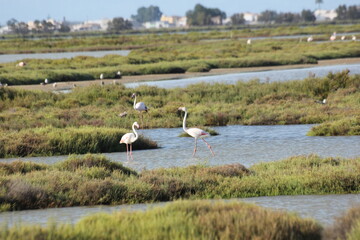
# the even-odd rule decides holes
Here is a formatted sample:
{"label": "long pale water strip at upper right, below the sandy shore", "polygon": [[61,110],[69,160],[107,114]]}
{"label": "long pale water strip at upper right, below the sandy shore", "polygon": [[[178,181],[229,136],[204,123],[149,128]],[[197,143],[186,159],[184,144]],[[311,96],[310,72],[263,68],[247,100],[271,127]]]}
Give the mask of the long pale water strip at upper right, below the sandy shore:
{"label": "long pale water strip at upper right, below the sandy shore", "polygon": [[285,69],[285,70],[231,73],[231,74],[194,77],[194,78],[186,78],[186,79],[178,79],[178,80],[172,79],[172,80],[162,80],[162,81],[135,82],[135,83],[126,83],[125,86],[134,88],[141,85],[149,85],[149,86],[157,86],[160,88],[175,88],[175,87],[186,87],[188,85],[201,83],[201,82],[234,84],[238,81],[249,81],[253,79],[259,79],[261,82],[274,82],[274,81],[282,82],[282,81],[305,79],[309,77],[309,75],[315,75],[316,77],[324,77],[327,74],[329,74],[329,72],[336,73],[346,69],[350,70],[350,75],[360,74],[360,63]]}

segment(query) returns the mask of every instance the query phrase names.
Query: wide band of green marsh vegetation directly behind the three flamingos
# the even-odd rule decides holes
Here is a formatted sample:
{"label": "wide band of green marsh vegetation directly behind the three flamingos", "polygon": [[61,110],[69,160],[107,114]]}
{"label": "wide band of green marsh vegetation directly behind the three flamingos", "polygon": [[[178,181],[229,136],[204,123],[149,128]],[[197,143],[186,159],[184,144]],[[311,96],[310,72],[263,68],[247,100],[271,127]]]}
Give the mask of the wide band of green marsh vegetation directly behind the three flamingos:
{"label": "wide band of green marsh vegetation directly behind the three flamingos", "polygon": [[[55,94],[0,88],[0,157],[124,151],[119,139],[139,120],[132,108],[134,91],[150,107],[143,114],[147,128],[181,127],[183,115],[177,109],[186,106],[192,127],[338,121],[338,130],[316,134],[359,134],[359,89],[360,75],[349,76],[348,71],[288,82],[200,83],[184,89],[106,85]],[[323,98],[326,104],[315,102]],[[127,116],[120,118],[124,111]],[[352,130],[346,133],[347,126]],[[141,138],[134,149],[153,147]]]}

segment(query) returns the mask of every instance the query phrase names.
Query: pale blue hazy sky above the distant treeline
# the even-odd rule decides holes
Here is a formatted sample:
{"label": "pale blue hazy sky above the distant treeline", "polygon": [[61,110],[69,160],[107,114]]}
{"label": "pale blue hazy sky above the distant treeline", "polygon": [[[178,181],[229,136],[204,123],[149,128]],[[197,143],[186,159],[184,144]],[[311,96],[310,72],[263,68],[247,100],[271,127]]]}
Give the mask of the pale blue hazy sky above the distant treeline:
{"label": "pale blue hazy sky above the distant treeline", "polygon": [[[300,12],[315,10],[315,0],[0,0],[0,24],[15,18],[18,21],[43,20],[48,17],[70,21],[101,18],[129,18],[139,7],[158,6],[165,15],[184,16],[200,3],[208,8],[219,8],[228,16],[238,12],[275,10],[278,12]],[[323,0],[322,9],[335,9],[340,4],[358,5],[359,0]]]}

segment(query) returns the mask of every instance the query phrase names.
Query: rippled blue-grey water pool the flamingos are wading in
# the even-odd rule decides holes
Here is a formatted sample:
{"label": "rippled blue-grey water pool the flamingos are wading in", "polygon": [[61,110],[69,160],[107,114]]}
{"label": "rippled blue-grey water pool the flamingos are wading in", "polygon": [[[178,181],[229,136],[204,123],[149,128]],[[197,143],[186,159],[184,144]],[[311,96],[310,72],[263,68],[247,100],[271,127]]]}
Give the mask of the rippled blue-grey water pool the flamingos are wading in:
{"label": "rippled blue-grey water pool the flamingos are wading in", "polygon": [[[313,125],[275,125],[214,127],[220,134],[207,138],[215,157],[202,140],[198,152],[192,157],[194,139],[178,137],[182,128],[158,128],[139,130],[140,134],[156,141],[161,148],[134,149],[134,160],[127,161],[125,152],[105,153],[113,161],[137,171],[143,169],[189,166],[194,164],[223,165],[241,163],[247,167],[259,163],[277,161],[295,155],[318,154],[320,156],[353,158],[360,156],[360,136],[309,137],[306,133]],[[67,156],[21,158],[22,160],[52,164]],[[15,159],[0,159],[10,162]]]}

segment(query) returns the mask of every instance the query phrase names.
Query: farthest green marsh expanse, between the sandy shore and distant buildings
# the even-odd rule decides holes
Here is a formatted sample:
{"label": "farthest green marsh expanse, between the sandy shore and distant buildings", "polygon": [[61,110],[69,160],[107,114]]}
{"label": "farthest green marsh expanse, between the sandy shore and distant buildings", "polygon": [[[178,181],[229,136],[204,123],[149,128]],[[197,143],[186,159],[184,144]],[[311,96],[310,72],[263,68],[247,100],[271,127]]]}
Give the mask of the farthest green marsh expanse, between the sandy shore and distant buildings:
{"label": "farthest green marsh expanse, between the sandy shore and distant buildings", "polygon": [[[11,39],[0,41],[0,52],[63,52],[133,49],[128,56],[108,55],[102,58],[26,59],[25,67],[16,63],[0,64],[0,81],[9,85],[81,81],[122,75],[206,72],[215,68],[240,68],[288,64],[314,64],[321,59],[360,56],[360,42],[308,43],[299,39],[266,39],[247,45],[239,37],[254,37],[308,32],[323,32],[316,41],[328,40],[338,30],[359,31],[359,25],[322,26],[307,29],[279,27],[258,30],[191,32],[188,34],[122,35],[72,39]],[[295,33],[296,32],[296,33]]]}

